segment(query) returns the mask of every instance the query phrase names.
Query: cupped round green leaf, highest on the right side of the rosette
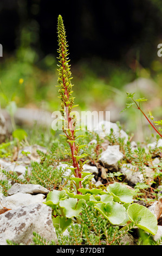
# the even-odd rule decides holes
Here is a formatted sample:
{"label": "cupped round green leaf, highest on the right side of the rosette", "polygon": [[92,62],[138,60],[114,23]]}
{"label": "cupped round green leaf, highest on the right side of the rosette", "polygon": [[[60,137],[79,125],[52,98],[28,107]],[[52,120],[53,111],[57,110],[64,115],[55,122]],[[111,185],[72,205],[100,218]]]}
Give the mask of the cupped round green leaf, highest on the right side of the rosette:
{"label": "cupped round green leaf, highest on the right side of the rosette", "polygon": [[115,202],[132,203],[133,194],[129,188],[121,185],[119,182],[115,182],[107,187],[107,191],[114,197]]}

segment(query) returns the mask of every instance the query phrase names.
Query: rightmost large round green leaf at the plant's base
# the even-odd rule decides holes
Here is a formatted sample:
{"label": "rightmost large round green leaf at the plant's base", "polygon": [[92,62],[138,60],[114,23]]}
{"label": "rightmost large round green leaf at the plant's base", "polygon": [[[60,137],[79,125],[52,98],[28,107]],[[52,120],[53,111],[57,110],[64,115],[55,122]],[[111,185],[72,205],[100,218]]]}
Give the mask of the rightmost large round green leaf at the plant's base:
{"label": "rightmost large round green leaf at the plant's base", "polygon": [[158,230],[157,218],[145,206],[131,204],[128,207],[127,214],[131,221],[137,221],[140,218],[137,227],[155,235]]}

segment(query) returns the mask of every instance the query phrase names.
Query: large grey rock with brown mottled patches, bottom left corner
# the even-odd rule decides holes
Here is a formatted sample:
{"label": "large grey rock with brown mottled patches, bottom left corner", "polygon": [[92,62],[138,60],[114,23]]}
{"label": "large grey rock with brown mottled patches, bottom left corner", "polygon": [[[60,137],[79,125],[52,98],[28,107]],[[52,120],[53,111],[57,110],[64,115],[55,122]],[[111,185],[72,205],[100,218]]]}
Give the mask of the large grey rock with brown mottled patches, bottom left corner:
{"label": "large grey rock with brown mottled patches, bottom left corner", "polygon": [[19,206],[0,215],[0,245],[7,245],[6,240],[30,245],[33,232],[47,241],[57,236],[51,220],[51,208],[45,204]]}

